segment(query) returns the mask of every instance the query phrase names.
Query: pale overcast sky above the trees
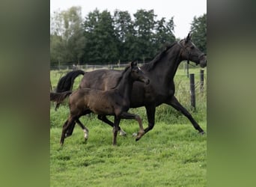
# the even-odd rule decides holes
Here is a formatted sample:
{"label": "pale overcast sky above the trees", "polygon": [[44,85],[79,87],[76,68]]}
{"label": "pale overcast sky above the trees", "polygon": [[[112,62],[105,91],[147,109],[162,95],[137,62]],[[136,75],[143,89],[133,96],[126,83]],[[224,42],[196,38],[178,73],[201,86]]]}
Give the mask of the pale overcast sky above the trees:
{"label": "pale overcast sky above the trees", "polygon": [[[186,37],[194,16],[207,13],[207,0],[51,0],[50,11],[67,10],[72,6],[82,7],[82,17],[96,8],[100,11],[109,10],[113,15],[114,10],[127,10],[132,16],[138,9],[154,10],[156,19],[165,17],[166,21],[174,16],[175,37]],[[133,16],[132,16],[133,18]]]}

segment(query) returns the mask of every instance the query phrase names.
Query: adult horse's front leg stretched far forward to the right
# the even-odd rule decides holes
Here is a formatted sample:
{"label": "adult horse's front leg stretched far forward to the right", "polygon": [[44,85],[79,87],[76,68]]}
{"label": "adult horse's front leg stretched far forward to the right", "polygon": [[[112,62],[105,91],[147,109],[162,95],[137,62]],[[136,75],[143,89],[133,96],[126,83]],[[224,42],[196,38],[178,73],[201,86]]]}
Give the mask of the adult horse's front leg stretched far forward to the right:
{"label": "adult horse's front leg stretched far forward to the right", "polygon": [[178,102],[178,100],[176,99],[175,96],[172,96],[171,99],[168,100],[168,102],[165,102],[168,105],[171,105],[173,108],[175,108],[177,111],[181,111],[181,113],[183,115],[185,115],[190,122],[192,123],[192,125],[194,126],[195,129],[198,130],[198,132],[203,135],[204,134],[204,130],[201,129],[201,127],[198,125],[198,123],[194,120],[194,118],[192,117],[192,115],[189,113],[189,111],[186,110],[186,108],[183,107],[183,105],[180,104],[180,102]]}

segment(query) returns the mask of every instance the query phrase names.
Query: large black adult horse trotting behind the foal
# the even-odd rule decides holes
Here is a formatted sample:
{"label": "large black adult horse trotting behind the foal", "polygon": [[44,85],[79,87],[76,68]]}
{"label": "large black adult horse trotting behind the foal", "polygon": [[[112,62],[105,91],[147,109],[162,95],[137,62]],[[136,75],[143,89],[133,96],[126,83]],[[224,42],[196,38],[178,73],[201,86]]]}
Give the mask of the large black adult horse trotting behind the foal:
{"label": "large black adult horse trotting behind the foal", "polygon": [[[165,103],[171,105],[177,111],[181,111],[191,121],[195,129],[204,134],[204,130],[201,129],[189,111],[174,96],[174,76],[181,61],[193,61],[197,65],[200,64],[201,67],[207,66],[206,56],[192,43],[191,34],[188,34],[185,39],[179,42],[166,46],[165,50],[156,55],[153,61],[141,67],[145,76],[150,79],[150,84],[134,83],[130,108],[141,106],[146,108],[148,126],[144,129],[145,133],[153,129],[156,106]],[[121,72],[118,70],[94,70],[84,73],[79,88],[109,90],[115,87]],[[113,123],[106,116],[99,116],[99,119],[113,126]]]}

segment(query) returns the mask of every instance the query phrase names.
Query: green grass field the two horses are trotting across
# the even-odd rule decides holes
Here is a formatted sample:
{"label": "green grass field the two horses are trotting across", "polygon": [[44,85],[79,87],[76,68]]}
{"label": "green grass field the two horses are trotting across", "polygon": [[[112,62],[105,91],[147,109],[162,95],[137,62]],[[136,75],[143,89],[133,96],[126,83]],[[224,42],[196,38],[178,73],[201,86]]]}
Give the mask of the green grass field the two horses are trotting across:
{"label": "green grass field the two horses are trotting across", "polygon": [[[199,73],[198,69],[192,71]],[[53,87],[59,75],[51,72]],[[184,75],[183,70],[179,70],[175,77],[177,98],[207,131],[206,92],[197,93],[196,111],[192,111],[189,93],[185,91],[189,80]],[[195,78],[197,82],[198,76]],[[74,89],[81,79],[82,76],[76,79]],[[144,128],[147,127],[144,108],[130,111],[139,114]],[[81,117],[90,131],[88,141],[85,143],[82,129],[76,126],[61,147],[61,126],[68,114],[67,104],[61,105],[58,111],[51,105],[51,186],[206,186],[207,135],[198,135],[189,120],[170,106],[156,108],[156,125],[139,141],[132,137],[133,132],[138,132],[138,123],[121,120],[127,136],[118,135],[117,147],[112,146],[112,128],[97,120],[94,114]]]}

